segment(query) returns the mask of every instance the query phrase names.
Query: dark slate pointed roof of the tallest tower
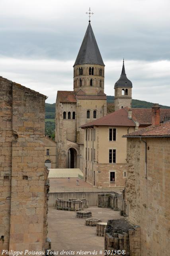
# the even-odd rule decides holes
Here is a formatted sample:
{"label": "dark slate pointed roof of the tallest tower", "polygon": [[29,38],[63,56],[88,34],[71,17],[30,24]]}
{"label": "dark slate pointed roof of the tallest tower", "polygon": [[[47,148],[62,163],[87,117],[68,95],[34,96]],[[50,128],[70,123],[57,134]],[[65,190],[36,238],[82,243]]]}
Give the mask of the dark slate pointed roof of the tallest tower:
{"label": "dark slate pointed roof of the tallest tower", "polygon": [[90,22],[74,66],[80,64],[99,64],[105,66]]}

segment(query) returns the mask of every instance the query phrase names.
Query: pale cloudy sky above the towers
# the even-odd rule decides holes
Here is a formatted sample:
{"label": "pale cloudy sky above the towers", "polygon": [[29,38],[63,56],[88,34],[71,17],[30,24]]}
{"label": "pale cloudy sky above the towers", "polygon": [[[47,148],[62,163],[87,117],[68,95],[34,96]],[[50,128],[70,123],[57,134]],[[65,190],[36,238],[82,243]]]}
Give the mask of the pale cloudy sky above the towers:
{"label": "pale cloudy sky above the towers", "polygon": [[0,76],[47,95],[73,89],[89,6],[114,95],[125,58],[133,98],[170,106],[170,0],[0,0]]}

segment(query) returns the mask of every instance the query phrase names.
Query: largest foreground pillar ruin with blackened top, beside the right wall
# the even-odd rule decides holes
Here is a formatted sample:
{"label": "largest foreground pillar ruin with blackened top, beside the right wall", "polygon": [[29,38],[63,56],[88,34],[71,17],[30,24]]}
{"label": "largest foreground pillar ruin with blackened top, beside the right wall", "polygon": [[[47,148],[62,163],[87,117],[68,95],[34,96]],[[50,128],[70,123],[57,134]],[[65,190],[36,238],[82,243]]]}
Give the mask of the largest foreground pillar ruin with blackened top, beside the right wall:
{"label": "largest foreground pillar ruin with blackened top, beside the right wall", "polygon": [[105,250],[125,250],[126,255],[140,256],[140,227],[132,226],[124,218],[119,220],[108,220],[104,246]]}

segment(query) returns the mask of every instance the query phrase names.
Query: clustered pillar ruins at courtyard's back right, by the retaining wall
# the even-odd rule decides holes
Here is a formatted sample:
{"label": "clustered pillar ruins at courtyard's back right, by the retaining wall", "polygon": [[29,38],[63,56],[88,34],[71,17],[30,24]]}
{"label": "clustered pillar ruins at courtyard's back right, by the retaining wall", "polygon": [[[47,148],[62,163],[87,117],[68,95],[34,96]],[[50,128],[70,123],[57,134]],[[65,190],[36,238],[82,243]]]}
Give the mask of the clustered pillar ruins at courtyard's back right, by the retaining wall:
{"label": "clustered pillar ruins at courtyard's back right, by the retaining wall", "polygon": [[124,190],[122,194],[116,192],[98,194],[98,207],[121,210],[123,215],[125,208]]}

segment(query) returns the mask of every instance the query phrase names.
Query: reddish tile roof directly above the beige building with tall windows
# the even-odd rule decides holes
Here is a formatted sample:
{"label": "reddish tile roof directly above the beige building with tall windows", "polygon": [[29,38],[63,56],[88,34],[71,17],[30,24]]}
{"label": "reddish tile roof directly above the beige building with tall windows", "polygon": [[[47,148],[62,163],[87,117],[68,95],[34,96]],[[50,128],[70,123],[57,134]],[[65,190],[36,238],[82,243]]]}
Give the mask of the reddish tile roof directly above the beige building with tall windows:
{"label": "reddish tile roof directly above the beige building with tall windows", "polygon": [[95,121],[80,126],[81,128],[89,126],[135,126],[132,119],[128,118],[128,112],[121,108],[113,113],[103,116]]}

